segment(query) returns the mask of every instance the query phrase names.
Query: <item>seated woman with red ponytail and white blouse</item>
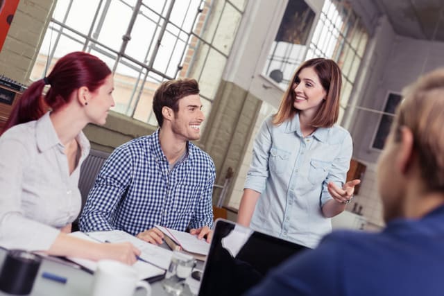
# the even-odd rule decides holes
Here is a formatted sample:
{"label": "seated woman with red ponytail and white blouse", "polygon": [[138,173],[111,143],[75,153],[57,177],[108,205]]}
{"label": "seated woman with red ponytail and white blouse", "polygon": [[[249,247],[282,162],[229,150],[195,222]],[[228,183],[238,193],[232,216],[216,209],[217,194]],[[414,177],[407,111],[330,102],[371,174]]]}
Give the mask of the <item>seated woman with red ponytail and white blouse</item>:
{"label": "seated woman with red ponytail and white blouse", "polygon": [[130,243],[66,234],[80,211],[78,177],[89,154],[82,129],[105,123],[113,89],[108,66],[83,52],[60,58],[49,76],[26,89],[0,137],[1,246],[135,263],[139,250]]}

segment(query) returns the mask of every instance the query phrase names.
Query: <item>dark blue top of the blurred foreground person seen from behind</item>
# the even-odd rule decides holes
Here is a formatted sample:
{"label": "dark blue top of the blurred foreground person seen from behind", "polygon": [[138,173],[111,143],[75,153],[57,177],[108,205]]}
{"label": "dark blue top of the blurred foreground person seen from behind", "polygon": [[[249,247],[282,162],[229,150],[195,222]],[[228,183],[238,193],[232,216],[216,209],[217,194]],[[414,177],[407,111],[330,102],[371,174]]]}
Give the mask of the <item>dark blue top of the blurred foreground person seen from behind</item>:
{"label": "dark blue top of the blurred foreground person seen from behind", "polygon": [[333,232],[246,295],[442,296],[444,206],[380,233]]}

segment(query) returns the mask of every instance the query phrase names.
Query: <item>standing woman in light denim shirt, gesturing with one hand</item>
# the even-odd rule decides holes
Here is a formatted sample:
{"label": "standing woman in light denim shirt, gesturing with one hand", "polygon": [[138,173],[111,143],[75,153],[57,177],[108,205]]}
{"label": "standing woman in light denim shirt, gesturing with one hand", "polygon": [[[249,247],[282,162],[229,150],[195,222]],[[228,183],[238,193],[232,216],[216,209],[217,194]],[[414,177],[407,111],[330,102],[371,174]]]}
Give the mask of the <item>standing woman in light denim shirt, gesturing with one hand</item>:
{"label": "standing woman in light denim shirt, gesturing with one hand", "polygon": [[[238,223],[308,247],[331,231],[359,180],[345,183],[352,138],[335,125],[341,70],[314,58],[294,74],[278,113],[262,124]],[[345,184],[344,184],[345,183]]]}

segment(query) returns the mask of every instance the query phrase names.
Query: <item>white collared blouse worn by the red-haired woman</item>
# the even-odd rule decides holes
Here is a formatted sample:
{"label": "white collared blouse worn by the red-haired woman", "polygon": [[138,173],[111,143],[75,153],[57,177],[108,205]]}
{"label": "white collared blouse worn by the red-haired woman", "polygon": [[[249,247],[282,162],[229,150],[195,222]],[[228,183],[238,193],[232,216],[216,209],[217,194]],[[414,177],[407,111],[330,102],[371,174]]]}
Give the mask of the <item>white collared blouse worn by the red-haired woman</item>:
{"label": "white collared blouse worn by the red-haired woman", "polygon": [[76,219],[81,207],[80,165],[89,141],[76,137],[80,159],[69,175],[64,146],[49,112],[38,121],[16,125],[0,137],[0,245],[48,250],[59,229]]}

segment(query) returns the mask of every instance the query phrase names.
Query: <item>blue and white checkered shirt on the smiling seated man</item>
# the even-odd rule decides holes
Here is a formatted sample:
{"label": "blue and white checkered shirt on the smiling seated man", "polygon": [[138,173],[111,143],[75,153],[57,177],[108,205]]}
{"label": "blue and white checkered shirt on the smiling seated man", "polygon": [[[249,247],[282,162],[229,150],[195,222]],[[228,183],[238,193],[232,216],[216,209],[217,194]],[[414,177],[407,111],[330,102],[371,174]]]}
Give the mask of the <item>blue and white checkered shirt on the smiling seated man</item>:
{"label": "blue and white checkered shirt on the smiling seated man", "polygon": [[116,148],[89,191],[80,230],[137,235],[156,224],[180,231],[212,227],[214,163],[191,142],[187,148],[187,156],[171,171],[159,130]]}

